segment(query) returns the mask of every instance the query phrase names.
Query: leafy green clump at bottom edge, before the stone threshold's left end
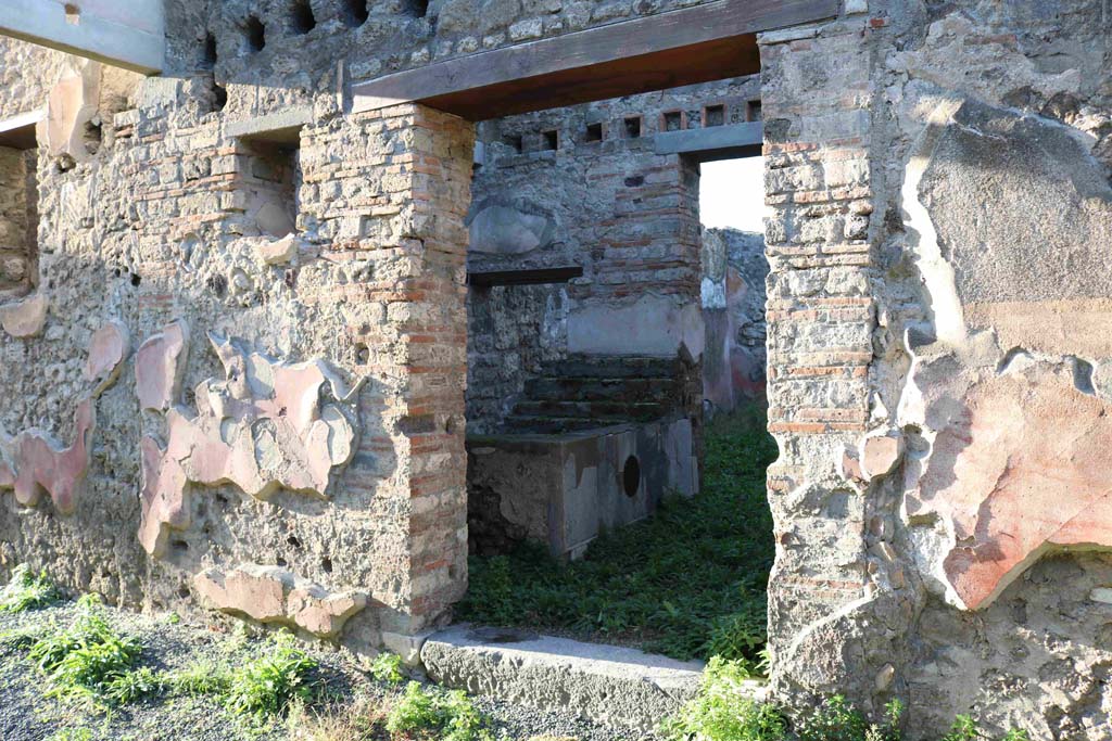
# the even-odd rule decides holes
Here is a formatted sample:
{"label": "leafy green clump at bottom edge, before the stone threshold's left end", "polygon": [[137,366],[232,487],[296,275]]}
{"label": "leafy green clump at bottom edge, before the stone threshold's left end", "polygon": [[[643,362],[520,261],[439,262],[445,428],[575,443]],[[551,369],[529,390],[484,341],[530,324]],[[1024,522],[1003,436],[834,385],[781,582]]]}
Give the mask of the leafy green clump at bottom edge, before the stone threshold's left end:
{"label": "leafy green clump at bottom edge, before the stone threshold's left end", "polygon": [[409,682],[390,709],[386,730],[429,741],[493,741],[487,721],[466,694],[439,693]]}

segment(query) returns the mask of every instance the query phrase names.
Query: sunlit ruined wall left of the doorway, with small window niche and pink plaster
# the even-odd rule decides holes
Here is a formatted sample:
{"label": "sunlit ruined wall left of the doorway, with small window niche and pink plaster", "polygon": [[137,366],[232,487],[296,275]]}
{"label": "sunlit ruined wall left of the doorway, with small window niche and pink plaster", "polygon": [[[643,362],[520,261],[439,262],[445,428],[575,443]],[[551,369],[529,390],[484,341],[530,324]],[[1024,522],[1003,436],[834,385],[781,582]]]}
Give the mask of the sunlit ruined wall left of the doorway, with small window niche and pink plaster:
{"label": "sunlit ruined wall left of the doorway, with small window niche and pink plaster", "polygon": [[[90,89],[50,120],[85,132]],[[326,90],[291,148],[230,136],[211,92],[137,80],[99,148],[40,150],[39,290],[0,307],[26,326],[0,567],[374,648],[466,583],[471,127]]]}

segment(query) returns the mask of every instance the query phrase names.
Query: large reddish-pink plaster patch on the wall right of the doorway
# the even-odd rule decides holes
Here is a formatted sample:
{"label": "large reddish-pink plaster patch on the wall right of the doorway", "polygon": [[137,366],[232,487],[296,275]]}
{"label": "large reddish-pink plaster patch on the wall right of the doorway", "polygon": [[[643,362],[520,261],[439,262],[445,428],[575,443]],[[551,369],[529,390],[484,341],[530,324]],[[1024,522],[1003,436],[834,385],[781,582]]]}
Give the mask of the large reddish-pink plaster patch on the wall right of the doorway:
{"label": "large reddish-pink plaster patch on the wall right of the doorway", "polygon": [[921,502],[953,523],[943,562],[972,610],[1055,547],[1112,548],[1112,408],[1055,373],[974,384],[939,430]]}

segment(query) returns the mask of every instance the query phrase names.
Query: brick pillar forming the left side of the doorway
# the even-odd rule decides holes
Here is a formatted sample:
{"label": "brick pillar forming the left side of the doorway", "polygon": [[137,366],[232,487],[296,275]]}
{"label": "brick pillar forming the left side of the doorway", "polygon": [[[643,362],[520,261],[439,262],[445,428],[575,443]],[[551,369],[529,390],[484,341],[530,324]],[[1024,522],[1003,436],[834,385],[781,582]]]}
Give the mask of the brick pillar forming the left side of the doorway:
{"label": "brick pillar forming the left side of the doorway", "polygon": [[[365,383],[340,482],[373,493],[368,578],[387,637],[447,618],[467,585],[465,257],[470,123],[407,104],[302,133],[302,227],[330,240],[327,293]],[[345,272],[342,266],[360,264]]]}

